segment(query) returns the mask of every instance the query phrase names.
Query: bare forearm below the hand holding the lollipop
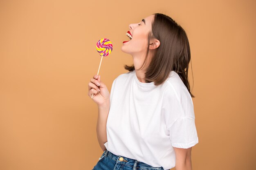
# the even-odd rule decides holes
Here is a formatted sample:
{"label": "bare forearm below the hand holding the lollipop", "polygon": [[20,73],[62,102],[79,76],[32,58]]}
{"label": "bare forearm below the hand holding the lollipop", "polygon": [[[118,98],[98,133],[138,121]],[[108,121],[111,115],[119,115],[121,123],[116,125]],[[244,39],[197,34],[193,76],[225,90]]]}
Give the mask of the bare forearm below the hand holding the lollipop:
{"label": "bare forearm below the hand holding the lollipop", "polygon": [[106,150],[104,144],[108,141],[107,139],[107,119],[108,119],[108,112],[109,112],[110,104],[109,102],[98,106],[98,121],[97,121],[97,138],[99,141],[99,145],[103,151]]}

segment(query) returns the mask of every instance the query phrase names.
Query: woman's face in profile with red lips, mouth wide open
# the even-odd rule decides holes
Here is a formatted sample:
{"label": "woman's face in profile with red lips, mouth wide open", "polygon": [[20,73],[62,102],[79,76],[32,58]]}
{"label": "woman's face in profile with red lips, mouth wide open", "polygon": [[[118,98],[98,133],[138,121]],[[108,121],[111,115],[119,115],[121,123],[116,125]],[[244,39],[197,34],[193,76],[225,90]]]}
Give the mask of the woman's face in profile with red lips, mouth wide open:
{"label": "woman's face in profile with red lips, mouth wide open", "polygon": [[129,25],[129,31],[132,39],[129,41],[124,41],[121,51],[131,55],[135,54],[146,54],[147,44],[148,44],[148,33],[151,32],[151,24],[154,20],[154,15],[150,15],[144,18],[139,23],[134,23]]}

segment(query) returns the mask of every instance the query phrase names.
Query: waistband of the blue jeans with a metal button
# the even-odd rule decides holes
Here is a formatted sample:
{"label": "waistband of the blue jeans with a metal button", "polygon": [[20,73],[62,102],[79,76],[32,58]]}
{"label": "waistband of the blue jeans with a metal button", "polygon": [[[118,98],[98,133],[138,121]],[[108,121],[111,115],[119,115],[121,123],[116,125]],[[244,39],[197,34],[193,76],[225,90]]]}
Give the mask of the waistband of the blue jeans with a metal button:
{"label": "waistband of the blue jeans with a metal button", "polygon": [[145,170],[164,170],[164,168],[162,168],[162,167],[153,167],[144,162],[137,161],[136,159],[131,159],[131,158],[124,157],[121,155],[115,155],[112,152],[110,152],[109,150],[105,150],[104,152],[105,152],[106,157],[109,156],[117,163],[123,163],[123,164],[126,164],[127,166],[141,168],[141,169],[145,169]]}

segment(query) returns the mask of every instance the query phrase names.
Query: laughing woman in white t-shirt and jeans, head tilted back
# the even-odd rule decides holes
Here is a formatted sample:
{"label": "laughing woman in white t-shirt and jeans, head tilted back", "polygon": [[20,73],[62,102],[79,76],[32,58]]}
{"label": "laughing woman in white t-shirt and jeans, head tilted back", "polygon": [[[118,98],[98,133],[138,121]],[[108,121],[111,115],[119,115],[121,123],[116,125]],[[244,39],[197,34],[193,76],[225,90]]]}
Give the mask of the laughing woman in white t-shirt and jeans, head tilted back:
{"label": "laughing woman in white t-shirt and jeans, head tilted back", "polygon": [[109,93],[95,75],[88,96],[97,103],[97,137],[104,151],[93,170],[191,170],[198,143],[188,68],[190,47],[182,27],[155,13],[130,24],[121,51],[132,55],[128,73]]}

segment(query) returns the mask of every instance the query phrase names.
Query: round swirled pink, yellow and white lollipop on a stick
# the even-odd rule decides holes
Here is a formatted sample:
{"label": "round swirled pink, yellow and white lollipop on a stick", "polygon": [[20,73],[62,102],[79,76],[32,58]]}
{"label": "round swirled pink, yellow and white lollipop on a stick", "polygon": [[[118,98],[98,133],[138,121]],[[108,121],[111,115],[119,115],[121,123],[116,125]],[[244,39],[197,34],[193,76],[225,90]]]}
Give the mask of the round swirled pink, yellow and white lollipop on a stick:
{"label": "round swirled pink, yellow and white lollipop on a stick", "polygon": [[[110,53],[113,50],[113,45],[111,41],[108,40],[107,38],[102,38],[97,42],[96,49],[100,53],[99,55],[101,56],[101,61],[102,61],[103,56],[107,57],[108,55],[110,55]],[[99,63],[99,68],[100,67],[101,67],[101,62]],[[98,69],[97,75],[99,75],[99,69]],[[92,94],[92,97],[93,97],[93,94]]]}

